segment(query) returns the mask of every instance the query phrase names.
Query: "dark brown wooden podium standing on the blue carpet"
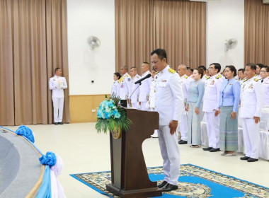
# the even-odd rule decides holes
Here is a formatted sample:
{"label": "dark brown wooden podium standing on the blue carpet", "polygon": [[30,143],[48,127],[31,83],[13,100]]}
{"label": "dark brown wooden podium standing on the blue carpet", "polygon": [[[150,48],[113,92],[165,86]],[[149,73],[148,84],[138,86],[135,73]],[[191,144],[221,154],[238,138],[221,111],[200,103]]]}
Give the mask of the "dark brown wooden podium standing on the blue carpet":
{"label": "dark brown wooden podium standing on the blue carpet", "polygon": [[118,197],[158,197],[157,182],[151,182],[142,152],[142,143],[159,129],[159,113],[127,109],[132,126],[119,139],[110,133],[111,184],[109,192]]}

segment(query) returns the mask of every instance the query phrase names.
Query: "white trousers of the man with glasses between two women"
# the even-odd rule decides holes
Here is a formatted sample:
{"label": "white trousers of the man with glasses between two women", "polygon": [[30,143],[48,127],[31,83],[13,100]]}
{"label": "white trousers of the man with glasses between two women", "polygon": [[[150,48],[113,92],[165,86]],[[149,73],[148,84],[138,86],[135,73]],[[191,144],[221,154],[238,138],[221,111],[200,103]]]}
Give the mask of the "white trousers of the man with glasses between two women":
{"label": "white trousers of the man with glasses between two women", "polygon": [[219,115],[216,117],[214,112],[205,112],[205,119],[207,120],[208,146],[219,148]]}

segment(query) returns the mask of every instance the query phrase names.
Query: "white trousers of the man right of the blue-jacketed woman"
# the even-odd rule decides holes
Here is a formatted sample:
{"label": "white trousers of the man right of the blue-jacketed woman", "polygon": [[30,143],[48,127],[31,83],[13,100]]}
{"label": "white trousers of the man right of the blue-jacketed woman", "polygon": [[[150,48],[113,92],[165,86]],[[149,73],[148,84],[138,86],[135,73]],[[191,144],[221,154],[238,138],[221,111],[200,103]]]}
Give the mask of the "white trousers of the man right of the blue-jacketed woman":
{"label": "white trousers of the man right of the blue-jacketed woman", "polygon": [[258,159],[260,148],[259,127],[260,122],[256,124],[253,118],[242,118],[243,137],[247,157]]}

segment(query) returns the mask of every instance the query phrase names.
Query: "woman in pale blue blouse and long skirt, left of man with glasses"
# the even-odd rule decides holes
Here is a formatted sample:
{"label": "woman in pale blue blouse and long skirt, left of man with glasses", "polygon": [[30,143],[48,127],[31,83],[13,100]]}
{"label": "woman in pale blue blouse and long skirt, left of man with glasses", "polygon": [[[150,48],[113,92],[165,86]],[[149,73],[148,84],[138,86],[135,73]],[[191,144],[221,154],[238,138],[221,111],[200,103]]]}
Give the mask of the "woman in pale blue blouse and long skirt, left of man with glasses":
{"label": "woman in pale blue blouse and long skirt, left of man with glasses", "polygon": [[201,120],[202,120],[202,97],[205,93],[205,83],[202,81],[202,69],[193,70],[193,79],[188,89],[186,111],[188,112],[188,144],[192,148],[200,147]]}

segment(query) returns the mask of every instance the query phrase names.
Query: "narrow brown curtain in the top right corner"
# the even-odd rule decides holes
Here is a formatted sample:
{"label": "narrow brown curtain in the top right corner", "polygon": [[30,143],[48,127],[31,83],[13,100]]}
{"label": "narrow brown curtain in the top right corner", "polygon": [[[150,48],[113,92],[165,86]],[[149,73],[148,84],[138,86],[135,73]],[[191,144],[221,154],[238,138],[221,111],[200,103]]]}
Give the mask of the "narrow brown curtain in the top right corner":
{"label": "narrow brown curtain in the top right corner", "polygon": [[269,5],[245,0],[245,64],[269,65]]}

